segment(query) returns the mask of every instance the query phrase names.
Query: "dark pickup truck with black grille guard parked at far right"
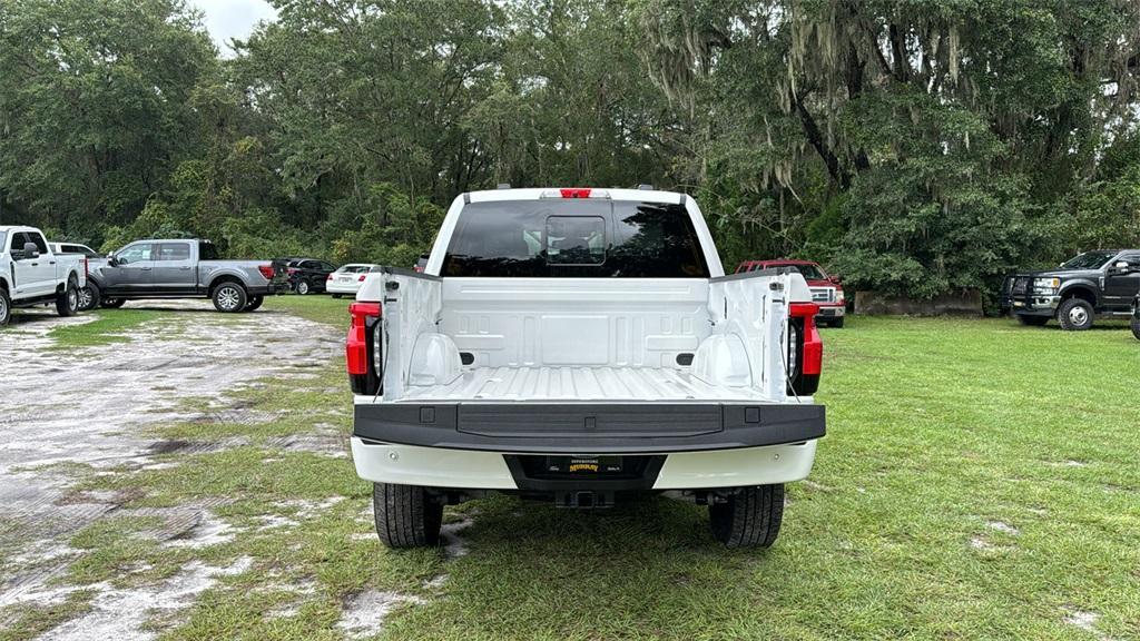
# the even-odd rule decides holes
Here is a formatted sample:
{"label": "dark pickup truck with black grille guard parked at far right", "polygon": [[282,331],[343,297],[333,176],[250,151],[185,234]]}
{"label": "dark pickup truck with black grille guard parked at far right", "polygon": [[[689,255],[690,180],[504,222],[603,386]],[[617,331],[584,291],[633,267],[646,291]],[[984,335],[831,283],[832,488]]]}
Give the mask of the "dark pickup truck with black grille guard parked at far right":
{"label": "dark pickup truck with black grille guard parked at far right", "polygon": [[1002,309],[1024,325],[1050,318],[1065,330],[1088,330],[1094,316],[1127,317],[1140,292],[1140,250],[1097,250],[1057,269],[1016,274],[1002,286]]}

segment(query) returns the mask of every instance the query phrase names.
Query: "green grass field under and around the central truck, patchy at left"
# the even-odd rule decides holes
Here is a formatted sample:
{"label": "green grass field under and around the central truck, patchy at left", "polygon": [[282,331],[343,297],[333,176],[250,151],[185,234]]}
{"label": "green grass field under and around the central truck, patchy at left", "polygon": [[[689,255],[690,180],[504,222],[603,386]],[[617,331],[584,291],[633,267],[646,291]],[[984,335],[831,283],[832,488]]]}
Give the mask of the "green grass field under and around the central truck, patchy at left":
{"label": "green grass field under and around the central truck, patchy at left", "polygon": [[[344,301],[266,307],[345,323]],[[228,498],[218,514],[233,541],[172,553],[138,536],[153,524],[119,519],[75,537],[88,553],[65,581],[153,582],[195,559],[252,559],[155,620],[170,639],[337,639],[360,593],[392,597],[382,639],[1140,638],[1140,341],[1119,325],[1007,319],[850,318],[823,335],[829,435],[767,551],[723,549],[703,509],[668,500],[573,512],[505,497],[449,509],[472,520],[465,554],[388,551],[349,460],[266,445],[316,422],[350,430],[333,359],[304,391],[267,381],[236,395],[272,423],[154,433],[247,445],[79,477],[76,492],[114,490],[128,506]],[[296,525],[259,528],[270,516]],[[132,567],[147,569],[124,578]],[[82,610],[76,594],[60,616]],[[58,618],[22,615],[25,633],[0,639]]]}

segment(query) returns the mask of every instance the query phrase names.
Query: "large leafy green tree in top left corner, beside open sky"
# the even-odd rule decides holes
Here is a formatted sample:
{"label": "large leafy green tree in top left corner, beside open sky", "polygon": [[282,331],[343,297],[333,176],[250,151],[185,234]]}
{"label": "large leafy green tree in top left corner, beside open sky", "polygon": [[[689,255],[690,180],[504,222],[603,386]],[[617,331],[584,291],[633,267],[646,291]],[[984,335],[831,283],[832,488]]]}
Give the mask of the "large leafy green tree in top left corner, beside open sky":
{"label": "large leafy green tree in top left corner, beside open sky", "polygon": [[0,186],[28,221],[125,224],[193,154],[218,65],[181,0],[0,3]]}

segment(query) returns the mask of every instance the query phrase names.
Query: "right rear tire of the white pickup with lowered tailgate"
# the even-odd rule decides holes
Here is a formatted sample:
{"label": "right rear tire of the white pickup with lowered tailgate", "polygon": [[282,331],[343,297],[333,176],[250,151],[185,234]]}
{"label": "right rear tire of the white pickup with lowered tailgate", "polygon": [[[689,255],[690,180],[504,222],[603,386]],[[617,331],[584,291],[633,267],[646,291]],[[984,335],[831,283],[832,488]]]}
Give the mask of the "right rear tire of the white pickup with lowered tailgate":
{"label": "right rear tire of the white pickup with lowered tailgate", "polygon": [[783,520],[783,484],[742,487],[726,503],[709,505],[712,537],[728,547],[768,547]]}

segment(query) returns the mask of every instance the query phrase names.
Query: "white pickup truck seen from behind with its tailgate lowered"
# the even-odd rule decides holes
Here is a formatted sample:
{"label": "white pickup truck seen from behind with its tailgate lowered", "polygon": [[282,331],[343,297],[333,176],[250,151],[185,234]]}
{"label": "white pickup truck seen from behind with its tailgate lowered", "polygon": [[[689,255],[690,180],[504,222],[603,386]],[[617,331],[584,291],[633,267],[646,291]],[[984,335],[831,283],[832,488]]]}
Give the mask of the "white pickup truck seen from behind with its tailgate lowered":
{"label": "white pickup truck seen from behind with its tailgate lowered", "polygon": [[423,273],[373,269],[350,306],[352,456],[392,547],[438,542],[488,492],[709,506],[768,546],[825,431],[798,273],[725,276],[697,203],[652,189],[456,198]]}

